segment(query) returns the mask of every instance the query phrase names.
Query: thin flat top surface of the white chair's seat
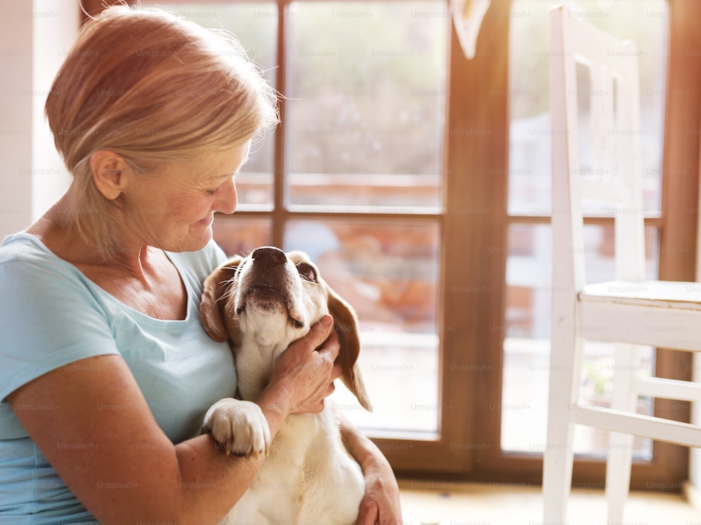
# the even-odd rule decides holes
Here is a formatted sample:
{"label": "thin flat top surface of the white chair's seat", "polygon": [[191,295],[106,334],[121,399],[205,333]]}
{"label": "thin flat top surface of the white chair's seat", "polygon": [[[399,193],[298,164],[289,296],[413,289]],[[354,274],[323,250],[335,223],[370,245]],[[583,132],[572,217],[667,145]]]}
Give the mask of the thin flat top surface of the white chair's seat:
{"label": "thin flat top surface of the white chair's seat", "polygon": [[608,281],[586,285],[580,301],[701,310],[701,282]]}

